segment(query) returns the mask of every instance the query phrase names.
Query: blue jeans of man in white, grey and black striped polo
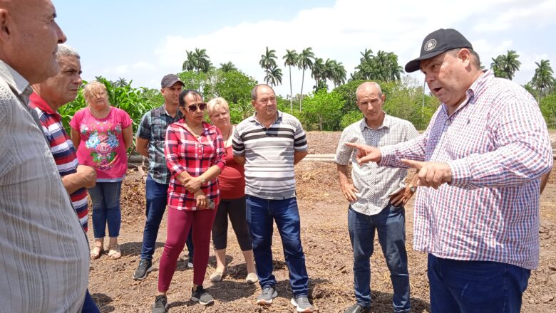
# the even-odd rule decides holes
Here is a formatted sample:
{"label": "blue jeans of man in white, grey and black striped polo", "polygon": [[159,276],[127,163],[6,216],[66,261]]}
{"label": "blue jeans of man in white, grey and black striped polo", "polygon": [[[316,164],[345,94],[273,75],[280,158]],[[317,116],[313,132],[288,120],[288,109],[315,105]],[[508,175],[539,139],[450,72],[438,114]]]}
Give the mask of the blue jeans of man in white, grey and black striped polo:
{"label": "blue jeans of man in white, grey and black striped polo", "polygon": [[307,296],[309,277],[301,243],[297,199],[267,200],[245,196],[247,224],[253,240],[253,254],[261,287],[276,285],[272,275],[272,220],[282,238],[284,258],[289,269],[289,284],[294,297]]}

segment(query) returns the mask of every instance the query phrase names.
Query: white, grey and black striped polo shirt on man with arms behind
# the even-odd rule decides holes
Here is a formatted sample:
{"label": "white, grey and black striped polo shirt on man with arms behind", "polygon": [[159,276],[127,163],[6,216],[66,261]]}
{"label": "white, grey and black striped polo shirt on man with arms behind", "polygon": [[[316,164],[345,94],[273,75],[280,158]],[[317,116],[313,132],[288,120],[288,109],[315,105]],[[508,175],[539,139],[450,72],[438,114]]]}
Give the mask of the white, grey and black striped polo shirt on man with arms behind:
{"label": "white, grey and black striped polo shirt on man with arms behind", "polygon": [[302,124],[277,111],[269,128],[256,113],[235,127],[234,155],[245,157],[245,193],[265,199],[295,196],[294,152],[307,151]]}

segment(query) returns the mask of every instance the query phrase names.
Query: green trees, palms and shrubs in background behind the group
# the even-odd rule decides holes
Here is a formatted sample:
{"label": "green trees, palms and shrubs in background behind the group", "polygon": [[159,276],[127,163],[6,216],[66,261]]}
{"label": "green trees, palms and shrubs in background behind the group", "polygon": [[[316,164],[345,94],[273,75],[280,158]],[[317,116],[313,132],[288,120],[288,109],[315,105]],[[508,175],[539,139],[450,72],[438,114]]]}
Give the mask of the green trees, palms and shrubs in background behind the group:
{"label": "green trees, palms and shrubs in background behind the group", "polygon": [[[185,61],[182,72],[178,73],[185,83],[186,89],[198,90],[205,100],[213,97],[224,97],[230,103],[232,122],[238,123],[253,114],[251,105],[251,90],[257,81],[242,73],[231,61],[220,63],[215,68],[210,61],[207,51],[195,48],[185,51]],[[490,68],[495,76],[513,79],[519,70],[520,55],[510,50],[503,55],[492,58]],[[277,97],[279,110],[288,112],[302,122],[307,130],[344,129],[349,124],[361,120],[363,117],[356,105],[355,90],[364,81],[376,81],[386,95],[383,110],[389,115],[400,117],[412,122],[418,129],[424,129],[436,111],[439,102],[435,97],[423,92],[423,86],[411,81],[408,76],[403,77],[403,69],[398,65],[398,56],[393,52],[378,51],[374,55],[370,48],[361,51],[359,65],[354,68],[350,78],[346,80],[346,69],[341,62],[330,58],[319,58],[312,47],[304,48],[297,53],[286,50],[282,56],[284,69],[287,67],[289,79],[289,95]],[[259,60],[264,70],[264,82],[276,86],[282,84],[282,69],[277,63],[278,56],[272,48],[266,47]],[[540,104],[542,115],[550,128],[556,128],[556,81],[549,60],[535,63],[535,75],[524,87]],[[297,74],[302,76],[299,94],[292,90],[292,68],[297,68]],[[304,73],[311,71],[314,86],[309,94],[303,93]],[[160,90],[145,87],[132,87],[124,78],[114,82],[98,77],[108,90],[110,104],[119,107],[130,115],[133,120],[133,130],[137,129],[140,118],[148,110],[163,104]],[[334,87],[329,91],[329,84]],[[299,107],[294,106],[299,102]],[[68,122],[73,114],[86,106],[83,95],[79,92],[75,101],[61,107],[64,125],[68,129]]]}

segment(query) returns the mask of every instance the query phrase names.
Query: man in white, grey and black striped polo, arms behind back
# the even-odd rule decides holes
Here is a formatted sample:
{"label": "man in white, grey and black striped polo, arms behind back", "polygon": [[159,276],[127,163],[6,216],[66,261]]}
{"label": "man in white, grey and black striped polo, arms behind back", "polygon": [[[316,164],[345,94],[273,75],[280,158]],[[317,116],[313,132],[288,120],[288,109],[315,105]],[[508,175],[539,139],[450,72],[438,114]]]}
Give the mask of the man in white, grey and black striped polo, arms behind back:
{"label": "man in white, grey and black striped polo, arms behind back", "polygon": [[247,223],[253,238],[253,254],[262,294],[258,304],[271,304],[277,296],[272,275],[272,221],[276,222],[289,283],[297,312],[313,312],[307,299],[309,277],[305,267],[295,195],[294,165],[307,155],[307,139],[299,120],[277,110],[276,95],[269,85],[251,92],[252,117],[237,124],[234,159],[245,166]]}

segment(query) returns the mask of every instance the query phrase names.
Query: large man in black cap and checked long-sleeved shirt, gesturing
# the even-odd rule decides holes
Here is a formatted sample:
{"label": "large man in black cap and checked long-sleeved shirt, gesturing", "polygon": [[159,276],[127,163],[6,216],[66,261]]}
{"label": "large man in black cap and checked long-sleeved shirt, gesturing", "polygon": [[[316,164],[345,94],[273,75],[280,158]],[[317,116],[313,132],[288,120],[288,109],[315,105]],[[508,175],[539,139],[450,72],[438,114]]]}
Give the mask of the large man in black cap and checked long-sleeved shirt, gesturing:
{"label": "large man in black cap and checked long-sleeved shirt, gesturing", "polygon": [[539,259],[540,178],[552,168],[545,121],[529,92],[480,69],[458,31],[426,36],[406,65],[419,69],[442,102],[426,132],[347,145],[359,163],[418,169],[413,248],[428,253],[432,312],[520,312]]}

